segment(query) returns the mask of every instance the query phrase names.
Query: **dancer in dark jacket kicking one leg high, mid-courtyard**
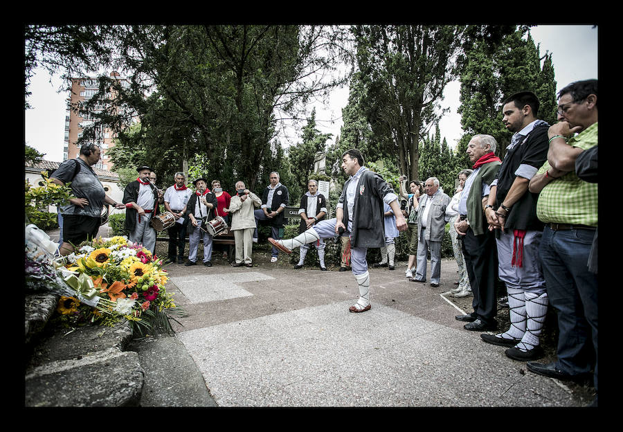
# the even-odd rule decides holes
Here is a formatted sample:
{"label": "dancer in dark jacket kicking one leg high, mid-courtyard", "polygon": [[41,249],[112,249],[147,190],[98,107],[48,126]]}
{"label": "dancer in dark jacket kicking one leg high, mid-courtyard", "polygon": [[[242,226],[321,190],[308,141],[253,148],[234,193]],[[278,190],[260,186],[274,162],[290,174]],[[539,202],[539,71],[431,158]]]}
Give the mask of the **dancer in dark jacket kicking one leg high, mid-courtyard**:
{"label": "dancer in dark jacket kicking one leg high, mid-courtyard", "polygon": [[405,231],[407,228],[394,190],[383,177],[365,168],[363,163],[359,150],[351,149],[342,155],[342,169],[350,177],[344,184],[334,219],[318,222],[294,239],[269,238],[273,246],[285,253],[292,253],[291,249],[316,242],[320,238],[350,233],[352,273],[359,286],[359,300],[350,307],[350,312],[365,312],[370,309],[370,275],[365,255],[368,248],[385,246],[383,202],[394,211],[398,230]]}

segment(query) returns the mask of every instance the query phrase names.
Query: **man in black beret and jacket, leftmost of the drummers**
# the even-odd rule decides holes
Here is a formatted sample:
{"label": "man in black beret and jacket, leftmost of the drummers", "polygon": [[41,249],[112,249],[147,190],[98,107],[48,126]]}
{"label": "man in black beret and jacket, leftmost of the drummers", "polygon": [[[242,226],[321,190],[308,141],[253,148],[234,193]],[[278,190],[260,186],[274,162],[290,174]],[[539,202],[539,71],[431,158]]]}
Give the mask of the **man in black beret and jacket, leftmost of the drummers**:
{"label": "man in black beret and jacket, leftmost of the drummers", "polygon": [[123,191],[125,204],[125,229],[129,231],[129,240],[143,244],[152,254],[156,249],[156,230],[151,226],[152,217],[158,211],[161,193],[150,182],[152,168],[136,168],[138,179],[131,181]]}

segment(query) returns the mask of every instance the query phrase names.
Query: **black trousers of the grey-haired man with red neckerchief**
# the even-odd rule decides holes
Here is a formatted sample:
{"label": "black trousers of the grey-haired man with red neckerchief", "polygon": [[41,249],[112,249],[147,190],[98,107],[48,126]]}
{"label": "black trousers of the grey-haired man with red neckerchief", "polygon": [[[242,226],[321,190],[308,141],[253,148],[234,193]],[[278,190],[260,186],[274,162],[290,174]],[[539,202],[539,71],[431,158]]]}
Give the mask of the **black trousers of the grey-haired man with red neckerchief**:
{"label": "black trousers of the grey-haired man with red neckerchief", "polygon": [[485,324],[494,324],[498,312],[498,249],[495,233],[485,228],[484,234],[474,235],[470,227],[462,240],[465,267],[473,293],[473,314]]}

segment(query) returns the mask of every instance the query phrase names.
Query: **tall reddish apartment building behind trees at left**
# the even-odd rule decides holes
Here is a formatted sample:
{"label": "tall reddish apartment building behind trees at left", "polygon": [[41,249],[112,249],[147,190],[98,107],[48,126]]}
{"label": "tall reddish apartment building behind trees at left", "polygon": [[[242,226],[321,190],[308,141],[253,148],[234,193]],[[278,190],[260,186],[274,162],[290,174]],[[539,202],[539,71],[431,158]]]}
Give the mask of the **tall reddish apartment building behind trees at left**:
{"label": "tall reddish apartment building behind trees at left", "polygon": [[[115,78],[121,82],[121,85],[129,85],[127,78],[123,78],[118,72],[111,72],[111,78]],[[82,129],[93,123],[93,117],[87,113],[76,113],[71,107],[76,106],[80,102],[87,101],[99,91],[99,82],[97,78],[73,78],[71,83],[71,94],[67,98],[67,109],[65,114],[65,142],[63,147],[63,160],[74,159],[80,154],[80,147],[76,145],[78,138],[82,136]],[[109,93],[108,93],[109,94]],[[109,96],[110,97],[110,96]],[[97,108],[96,108],[97,112]],[[114,132],[108,127],[99,127],[96,130],[96,143],[102,149],[102,159],[95,165],[101,170],[112,170],[111,163],[107,151],[114,146]]]}

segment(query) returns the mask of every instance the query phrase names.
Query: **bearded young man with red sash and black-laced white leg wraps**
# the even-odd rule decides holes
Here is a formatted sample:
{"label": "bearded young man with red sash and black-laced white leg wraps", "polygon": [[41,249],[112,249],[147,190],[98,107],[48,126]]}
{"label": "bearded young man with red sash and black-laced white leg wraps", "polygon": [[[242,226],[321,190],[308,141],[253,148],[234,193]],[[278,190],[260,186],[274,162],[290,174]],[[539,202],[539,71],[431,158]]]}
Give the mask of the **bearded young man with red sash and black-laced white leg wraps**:
{"label": "bearded young man with red sash and black-laced white leg wraps", "polygon": [[507,357],[528,361],[543,357],[539,335],[548,312],[548,293],[539,260],[543,222],[536,217],[538,194],[530,179],[548,157],[548,128],[537,120],[539,99],[530,91],[504,101],[503,123],[515,132],[491,183],[485,206],[489,230],[495,230],[498,277],[506,285],[511,325],[501,334],[481,334],[483,341],[505,346]]}

